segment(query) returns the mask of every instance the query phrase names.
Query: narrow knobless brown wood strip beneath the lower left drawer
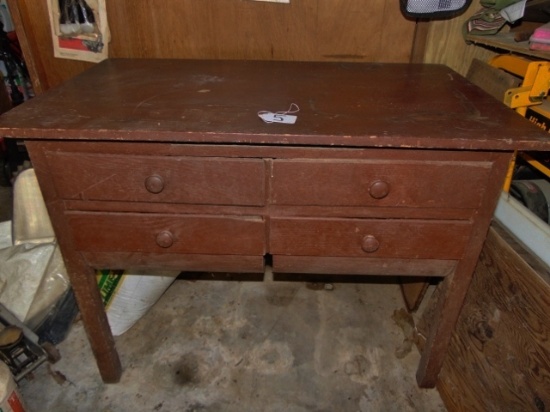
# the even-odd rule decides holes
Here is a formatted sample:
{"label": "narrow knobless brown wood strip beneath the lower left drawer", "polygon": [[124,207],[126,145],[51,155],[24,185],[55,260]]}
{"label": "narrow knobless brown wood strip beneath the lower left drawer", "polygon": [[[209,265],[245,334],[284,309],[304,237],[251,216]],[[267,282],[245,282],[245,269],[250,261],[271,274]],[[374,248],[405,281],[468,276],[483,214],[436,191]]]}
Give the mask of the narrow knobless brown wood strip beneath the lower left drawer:
{"label": "narrow knobless brown wood strip beneath the lower left drawer", "polygon": [[174,253],[82,252],[91,267],[102,269],[168,268],[182,272],[263,273],[263,256]]}

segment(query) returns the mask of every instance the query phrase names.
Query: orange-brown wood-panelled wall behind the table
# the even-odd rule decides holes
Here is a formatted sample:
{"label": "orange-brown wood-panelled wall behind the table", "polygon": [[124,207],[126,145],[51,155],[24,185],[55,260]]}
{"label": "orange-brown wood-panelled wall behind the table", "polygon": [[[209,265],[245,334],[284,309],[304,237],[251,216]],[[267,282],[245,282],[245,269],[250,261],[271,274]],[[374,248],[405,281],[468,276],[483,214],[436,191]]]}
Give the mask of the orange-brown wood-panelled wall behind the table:
{"label": "orange-brown wood-panelled wall behind the table", "polygon": [[[89,67],[53,57],[46,0],[9,0],[38,93]],[[107,1],[111,57],[409,61],[398,0]]]}

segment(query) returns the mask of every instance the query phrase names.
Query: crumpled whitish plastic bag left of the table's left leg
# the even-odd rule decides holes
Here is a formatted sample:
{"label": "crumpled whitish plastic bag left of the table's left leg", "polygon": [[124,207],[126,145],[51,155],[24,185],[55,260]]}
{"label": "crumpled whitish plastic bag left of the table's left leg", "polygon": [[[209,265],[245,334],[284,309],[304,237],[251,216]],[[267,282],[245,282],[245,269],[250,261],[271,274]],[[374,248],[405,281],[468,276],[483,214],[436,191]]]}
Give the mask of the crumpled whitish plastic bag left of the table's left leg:
{"label": "crumpled whitish plastic bag left of the table's left leg", "polygon": [[13,209],[0,223],[0,302],[35,329],[70,285],[34,169],[17,175]]}

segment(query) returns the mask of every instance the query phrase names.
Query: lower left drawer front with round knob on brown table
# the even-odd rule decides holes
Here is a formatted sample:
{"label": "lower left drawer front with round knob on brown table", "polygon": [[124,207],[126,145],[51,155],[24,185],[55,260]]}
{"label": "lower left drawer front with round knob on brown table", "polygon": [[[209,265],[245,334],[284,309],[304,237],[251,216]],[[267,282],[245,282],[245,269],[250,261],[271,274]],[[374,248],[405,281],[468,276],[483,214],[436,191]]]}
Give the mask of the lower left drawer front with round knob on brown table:
{"label": "lower left drawer front with round knob on brown table", "polygon": [[260,217],[67,212],[83,252],[263,255]]}

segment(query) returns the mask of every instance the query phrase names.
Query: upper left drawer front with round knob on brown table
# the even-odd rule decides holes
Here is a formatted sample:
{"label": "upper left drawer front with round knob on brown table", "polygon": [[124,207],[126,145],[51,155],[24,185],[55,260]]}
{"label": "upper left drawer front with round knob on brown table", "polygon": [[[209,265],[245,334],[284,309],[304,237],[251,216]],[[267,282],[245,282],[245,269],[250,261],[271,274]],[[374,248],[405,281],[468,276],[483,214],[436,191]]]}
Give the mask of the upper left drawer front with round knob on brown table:
{"label": "upper left drawer front with round knob on brown table", "polygon": [[258,159],[48,152],[64,199],[261,206]]}

